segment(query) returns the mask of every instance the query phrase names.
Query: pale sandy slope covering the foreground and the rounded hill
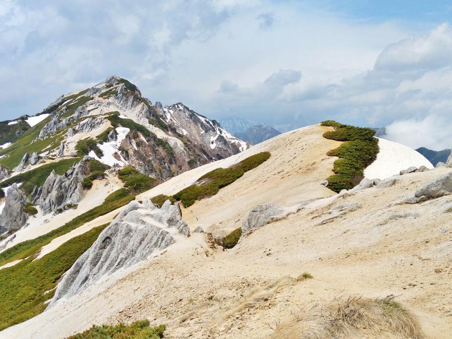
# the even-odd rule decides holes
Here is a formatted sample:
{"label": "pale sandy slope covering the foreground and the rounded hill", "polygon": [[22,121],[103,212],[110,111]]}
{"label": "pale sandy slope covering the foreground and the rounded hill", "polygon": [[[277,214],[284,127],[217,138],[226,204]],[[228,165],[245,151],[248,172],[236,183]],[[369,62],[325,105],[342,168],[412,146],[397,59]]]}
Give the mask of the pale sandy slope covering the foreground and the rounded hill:
{"label": "pale sandy slope covering the foreground and the rounded hill", "polygon": [[[340,143],[313,126],[278,136],[243,154],[184,173],[142,194],[172,194],[214,167],[251,154],[272,157],[209,199],[182,210],[191,230],[213,235],[240,227],[257,204],[294,206],[332,196],[320,185]],[[93,323],[148,318],[167,337],[265,338],[279,322],[343,295],[397,295],[427,337],[452,337],[452,196],[398,204],[450,169],[397,177],[327,204],[312,203],[243,236],[232,250],[193,234],[153,258],[104,279],[68,301],[2,332],[1,337],[60,338]],[[322,200],[323,202],[327,200]],[[337,215],[333,208],[359,206]],[[313,279],[287,278],[309,272]],[[388,331],[365,337],[397,337]]]}

